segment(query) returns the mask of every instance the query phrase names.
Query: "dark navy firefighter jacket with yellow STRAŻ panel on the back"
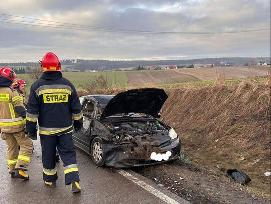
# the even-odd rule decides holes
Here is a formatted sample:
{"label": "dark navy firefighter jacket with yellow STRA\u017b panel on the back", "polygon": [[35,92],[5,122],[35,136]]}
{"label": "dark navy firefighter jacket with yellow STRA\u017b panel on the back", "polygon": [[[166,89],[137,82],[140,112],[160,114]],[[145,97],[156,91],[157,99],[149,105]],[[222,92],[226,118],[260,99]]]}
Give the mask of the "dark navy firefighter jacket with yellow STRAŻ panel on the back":
{"label": "dark navy firefighter jacket with yellow STRA\u017b panel on the back", "polygon": [[45,72],[30,88],[27,104],[26,131],[40,136],[61,135],[80,129],[83,115],[73,84],[61,72]]}

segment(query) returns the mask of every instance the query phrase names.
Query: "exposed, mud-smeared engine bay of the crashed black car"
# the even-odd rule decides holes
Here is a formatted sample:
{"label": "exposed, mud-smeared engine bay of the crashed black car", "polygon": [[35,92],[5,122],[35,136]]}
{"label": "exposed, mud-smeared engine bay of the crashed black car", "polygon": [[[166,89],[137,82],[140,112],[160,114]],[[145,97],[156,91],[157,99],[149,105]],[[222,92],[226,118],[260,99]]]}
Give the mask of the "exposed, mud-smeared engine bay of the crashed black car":
{"label": "exposed, mud-smeared engine bay of the crashed black car", "polygon": [[[139,159],[150,160],[150,155],[153,152],[162,156],[165,150],[161,147],[170,142],[168,136],[170,127],[161,124],[158,120],[104,125],[111,132],[112,142],[128,147],[132,154],[135,154]],[[160,160],[160,157],[154,157],[153,160]],[[165,155],[164,157],[164,160],[169,158],[169,156],[166,158]]]}

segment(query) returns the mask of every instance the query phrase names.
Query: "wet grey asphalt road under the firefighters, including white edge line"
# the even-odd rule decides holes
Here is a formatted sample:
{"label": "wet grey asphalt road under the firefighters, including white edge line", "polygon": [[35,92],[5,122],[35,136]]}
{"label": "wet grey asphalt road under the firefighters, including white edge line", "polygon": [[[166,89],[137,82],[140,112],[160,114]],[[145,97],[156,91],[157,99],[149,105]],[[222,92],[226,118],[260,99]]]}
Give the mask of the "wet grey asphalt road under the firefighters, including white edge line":
{"label": "wet grey asphalt road under the firefighters, including white edge line", "polygon": [[95,166],[90,155],[76,148],[81,193],[65,186],[63,163],[57,162],[57,187],[42,180],[39,139],[34,141],[29,165],[30,180],[10,178],[6,162],[6,143],[0,140],[0,203],[188,203],[175,194],[130,170]]}

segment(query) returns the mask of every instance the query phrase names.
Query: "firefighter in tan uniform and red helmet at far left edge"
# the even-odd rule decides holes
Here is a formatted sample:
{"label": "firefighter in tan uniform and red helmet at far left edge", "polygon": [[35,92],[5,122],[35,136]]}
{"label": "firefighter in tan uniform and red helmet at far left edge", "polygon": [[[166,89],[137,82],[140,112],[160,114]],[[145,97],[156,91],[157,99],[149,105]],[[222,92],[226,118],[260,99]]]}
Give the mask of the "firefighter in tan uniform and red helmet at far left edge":
{"label": "firefighter in tan uniform and red helmet at far left edge", "polygon": [[[32,141],[25,135],[26,109],[23,98],[10,88],[16,74],[10,68],[0,68],[0,129],[7,144],[7,162],[11,177],[29,179],[26,174],[32,153]],[[18,144],[20,151],[18,152]]]}

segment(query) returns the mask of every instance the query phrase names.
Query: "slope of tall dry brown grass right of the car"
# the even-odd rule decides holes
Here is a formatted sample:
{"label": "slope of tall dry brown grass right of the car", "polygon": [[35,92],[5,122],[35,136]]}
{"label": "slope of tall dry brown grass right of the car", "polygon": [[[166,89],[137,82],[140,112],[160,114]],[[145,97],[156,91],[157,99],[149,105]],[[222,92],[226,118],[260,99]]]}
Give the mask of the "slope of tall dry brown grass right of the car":
{"label": "slope of tall dry brown grass right of the car", "polygon": [[270,84],[215,85],[167,90],[163,120],[182,140],[189,163],[213,175],[246,172],[243,189],[270,199]]}

